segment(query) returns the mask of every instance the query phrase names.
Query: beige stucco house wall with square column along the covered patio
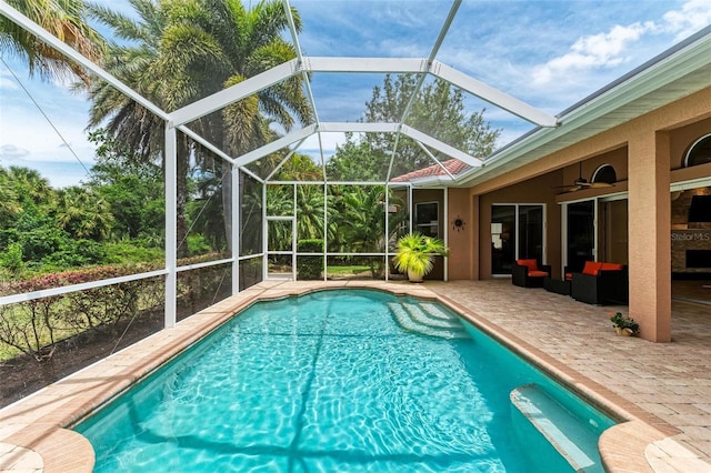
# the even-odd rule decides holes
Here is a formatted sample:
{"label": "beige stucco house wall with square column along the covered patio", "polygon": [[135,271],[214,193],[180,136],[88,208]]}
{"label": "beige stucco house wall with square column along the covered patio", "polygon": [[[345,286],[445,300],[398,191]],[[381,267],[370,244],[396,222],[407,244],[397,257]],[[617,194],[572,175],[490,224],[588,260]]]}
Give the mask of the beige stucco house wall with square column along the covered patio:
{"label": "beige stucco house wall with square column along the covered patio", "polygon": [[[711,177],[711,164],[682,169],[688,148],[711,132],[711,88],[691,94],[588,140],[574,143],[535,162],[468,189],[450,190],[458,213],[471,217],[477,228],[467,227],[455,238],[453,250],[465,254],[469,264],[450,259],[449,270],[457,278],[491,278],[491,205],[494,203],[545,204],[545,255],[560,276],[560,202],[628,192],[628,251],[622,256],[630,266],[630,315],[641,324],[641,336],[652,341],[671,340],[671,199],[670,183]],[[618,183],[612,189],[589,189],[560,194],[557,185],[572,183],[579,175],[590,180],[601,164],[611,164]],[[463,205],[462,202],[467,202]],[[619,212],[615,214],[619,219]],[[620,224],[615,220],[614,224]],[[468,222],[469,225],[469,222]],[[469,241],[462,236],[468,235]],[[612,250],[611,250],[612,251]],[[619,251],[612,254],[620,254]],[[478,262],[478,270],[473,264]],[[469,265],[469,270],[467,269]]]}

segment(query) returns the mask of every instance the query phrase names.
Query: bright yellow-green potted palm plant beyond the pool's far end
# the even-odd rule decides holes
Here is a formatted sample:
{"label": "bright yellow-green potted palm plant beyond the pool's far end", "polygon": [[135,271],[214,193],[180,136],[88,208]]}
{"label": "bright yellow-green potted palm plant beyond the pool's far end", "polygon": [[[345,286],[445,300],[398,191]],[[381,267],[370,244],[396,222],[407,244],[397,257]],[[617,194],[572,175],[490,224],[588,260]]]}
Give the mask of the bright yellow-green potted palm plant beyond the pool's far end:
{"label": "bright yellow-green potted palm plant beyond the pool's far end", "polygon": [[398,271],[408,274],[410,282],[422,282],[424,275],[432,271],[434,255],[438,254],[449,255],[449,248],[442,240],[412,232],[398,240],[392,262]]}

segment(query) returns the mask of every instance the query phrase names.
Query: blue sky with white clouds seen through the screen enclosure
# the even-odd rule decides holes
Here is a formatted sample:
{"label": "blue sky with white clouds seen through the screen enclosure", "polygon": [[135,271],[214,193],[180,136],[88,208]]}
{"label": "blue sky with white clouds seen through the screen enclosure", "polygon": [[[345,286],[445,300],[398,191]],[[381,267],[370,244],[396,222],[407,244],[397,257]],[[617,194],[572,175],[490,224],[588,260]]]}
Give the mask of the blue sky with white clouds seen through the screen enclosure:
{"label": "blue sky with white clouds seen through the screen enclosure", "polygon": [[[130,11],[124,0],[109,4]],[[303,22],[299,42],[306,56],[425,58],[451,3],[292,0],[291,4]],[[437,59],[555,114],[710,23],[709,0],[463,0]],[[42,112],[0,63],[0,165],[39,169],[58,187],[78,182],[93,161],[84,131],[87,99],[72,93],[67,83],[29,79],[19,58],[6,54],[3,61]],[[319,119],[358,120],[382,78],[314,74]],[[502,129],[500,144],[532,128],[474,97],[468,97],[467,107],[485,108],[484,118]],[[324,135],[327,153],[341,140],[339,134]],[[317,148],[317,140],[310,139],[300,151],[313,153]]]}

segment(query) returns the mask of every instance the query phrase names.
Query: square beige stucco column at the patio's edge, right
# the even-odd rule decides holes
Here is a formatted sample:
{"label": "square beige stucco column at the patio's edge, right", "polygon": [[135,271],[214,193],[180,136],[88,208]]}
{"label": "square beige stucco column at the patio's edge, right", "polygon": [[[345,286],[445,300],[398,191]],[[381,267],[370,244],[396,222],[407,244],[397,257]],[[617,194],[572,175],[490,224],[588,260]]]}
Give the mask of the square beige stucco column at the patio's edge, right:
{"label": "square beige stucco column at the patio's edge, right", "polygon": [[[649,130],[649,129],[648,129]],[[671,341],[671,203],[668,132],[634,135],[628,149],[630,316],[640,336]]]}

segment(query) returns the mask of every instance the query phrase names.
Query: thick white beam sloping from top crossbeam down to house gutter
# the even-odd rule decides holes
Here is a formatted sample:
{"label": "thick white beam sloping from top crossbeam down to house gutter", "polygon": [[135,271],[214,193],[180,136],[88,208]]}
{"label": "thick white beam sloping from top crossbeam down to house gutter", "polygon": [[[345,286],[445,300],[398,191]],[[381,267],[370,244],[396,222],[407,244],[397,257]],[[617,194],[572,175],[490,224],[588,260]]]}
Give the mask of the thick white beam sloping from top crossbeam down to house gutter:
{"label": "thick white beam sloping from top crossbeam down to house gutter", "polygon": [[450,68],[439,61],[433,61],[430,72],[440,79],[445,80],[452,85],[457,85],[474,95],[507,110],[514,115],[521,117],[523,120],[539,124],[541,127],[557,127],[558,119],[553,115],[549,115],[545,112],[538,110],[520,101],[519,99],[509,95],[491,85],[488,85],[477,79],[467,76],[457,69]]}

